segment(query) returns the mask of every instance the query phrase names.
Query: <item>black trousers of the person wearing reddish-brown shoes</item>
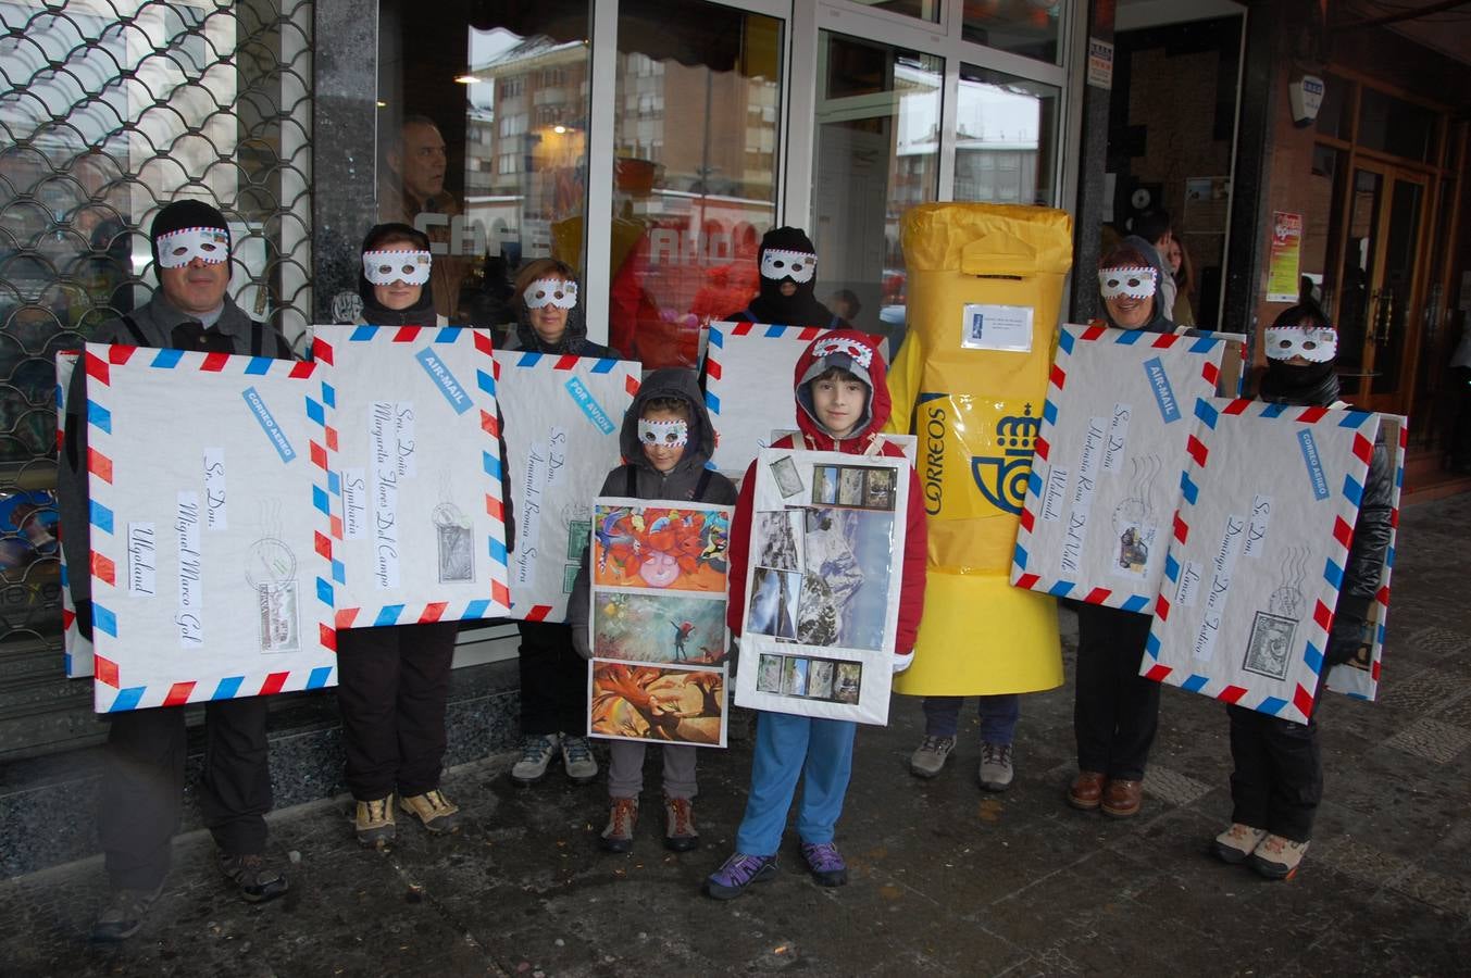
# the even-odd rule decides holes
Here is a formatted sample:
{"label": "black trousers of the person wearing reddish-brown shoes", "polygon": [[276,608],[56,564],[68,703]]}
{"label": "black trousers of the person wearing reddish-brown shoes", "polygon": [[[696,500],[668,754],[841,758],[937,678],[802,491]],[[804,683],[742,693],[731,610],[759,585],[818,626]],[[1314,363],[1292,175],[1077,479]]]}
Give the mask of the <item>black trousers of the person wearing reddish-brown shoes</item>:
{"label": "black trousers of the person wearing reddish-brown shoes", "polygon": [[1149,615],[1078,604],[1078,672],[1072,731],[1078,769],[1112,779],[1144,777],[1159,727],[1159,684],[1139,675]]}

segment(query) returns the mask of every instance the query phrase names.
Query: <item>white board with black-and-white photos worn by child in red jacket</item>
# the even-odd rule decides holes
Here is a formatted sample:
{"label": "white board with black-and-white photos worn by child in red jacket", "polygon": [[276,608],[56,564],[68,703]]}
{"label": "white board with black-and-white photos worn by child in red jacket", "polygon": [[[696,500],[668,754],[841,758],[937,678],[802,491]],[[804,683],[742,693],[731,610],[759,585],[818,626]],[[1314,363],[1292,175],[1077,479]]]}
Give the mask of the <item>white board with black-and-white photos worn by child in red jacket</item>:
{"label": "white board with black-and-white photos worn by child in red jacket", "polygon": [[888,722],[909,463],[762,449],[737,706]]}

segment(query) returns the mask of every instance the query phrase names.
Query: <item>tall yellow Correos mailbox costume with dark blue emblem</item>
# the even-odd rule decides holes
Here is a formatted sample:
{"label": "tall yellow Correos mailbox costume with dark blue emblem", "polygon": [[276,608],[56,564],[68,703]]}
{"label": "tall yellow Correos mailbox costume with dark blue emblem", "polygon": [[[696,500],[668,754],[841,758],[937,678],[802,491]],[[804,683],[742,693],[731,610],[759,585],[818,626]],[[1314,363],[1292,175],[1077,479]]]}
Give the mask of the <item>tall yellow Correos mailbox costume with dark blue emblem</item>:
{"label": "tall yellow Correos mailbox costume with dark blue emblem", "polygon": [[911,696],[1062,684],[1056,603],[1008,584],[1041,424],[1072,219],[1062,210],[940,203],[903,222],[909,335],[888,374],[890,431],[919,437],[930,516],[925,613]]}

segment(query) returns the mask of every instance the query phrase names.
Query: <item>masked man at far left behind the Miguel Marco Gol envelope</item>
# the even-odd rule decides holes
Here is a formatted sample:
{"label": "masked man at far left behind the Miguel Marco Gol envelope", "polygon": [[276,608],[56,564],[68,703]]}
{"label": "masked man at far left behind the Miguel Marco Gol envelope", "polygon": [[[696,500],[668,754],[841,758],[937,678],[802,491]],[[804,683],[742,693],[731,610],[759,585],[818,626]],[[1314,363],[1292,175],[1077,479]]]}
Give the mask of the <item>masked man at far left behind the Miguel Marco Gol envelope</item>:
{"label": "masked man at far left behind the Miguel Marco Gol envelope", "polygon": [[[140,309],[109,319],[93,343],[206,350],[291,359],[291,344],[274,326],[252,321],[227,294],[229,225],[215,207],[177,200],[150,229],[159,291]],[[165,397],[166,393],[159,394]],[[72,374],[66,397],[65,456],[57,466],[68,563],[90,566],[87,518],[85,371]],[[72,575],[76,625],[91,637],[91,591]],[[107,725],[107,760],[99,804],[99,838],[112,896],[91,937],[131,937],[163,888],[169,849],[184,809],[188,743],[182,706],[115,713]],[[244,900],[259,903],[287,891],[287,878],[263,859],[265,813],[271,810],[266,700],[243,697],[204,706],[204,771],[200,810],[218,846],[218,865]]]}

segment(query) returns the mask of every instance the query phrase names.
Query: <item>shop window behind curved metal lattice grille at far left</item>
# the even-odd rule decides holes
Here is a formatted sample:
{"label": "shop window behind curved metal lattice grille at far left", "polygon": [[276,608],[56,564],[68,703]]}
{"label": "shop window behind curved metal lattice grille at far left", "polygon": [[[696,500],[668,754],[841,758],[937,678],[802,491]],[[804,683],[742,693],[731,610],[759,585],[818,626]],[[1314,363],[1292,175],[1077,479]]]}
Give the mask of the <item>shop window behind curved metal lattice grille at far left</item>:
{"label": "shop window behind curved metal lattice grille at far left", "polygon": [[149,301],[154,215],[216,206],[235,303],[307,329],[312,24],[310,0],[0,0],[0,700],[41,675],[22,656],[60,677],[56,353]]}

